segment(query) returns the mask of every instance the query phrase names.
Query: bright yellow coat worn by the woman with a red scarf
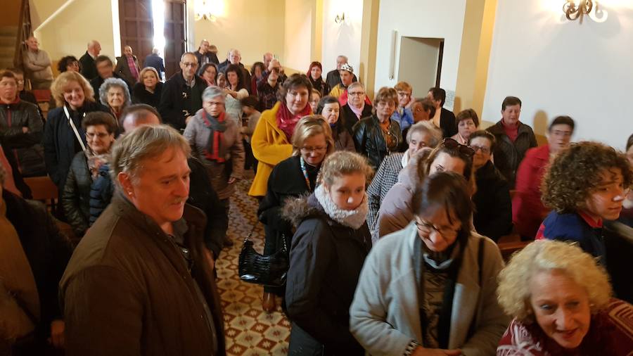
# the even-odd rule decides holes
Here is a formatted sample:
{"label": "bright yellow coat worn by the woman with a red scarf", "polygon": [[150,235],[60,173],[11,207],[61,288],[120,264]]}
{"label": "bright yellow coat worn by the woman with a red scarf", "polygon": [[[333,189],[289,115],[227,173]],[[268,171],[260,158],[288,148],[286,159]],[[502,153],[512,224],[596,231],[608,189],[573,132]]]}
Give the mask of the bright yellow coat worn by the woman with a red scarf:
{"label": "bright yellow coat worn by the woman with a red scarf", "polygon": [[280,106],[281,102],[277,101],[273,108],[264,111],[260,120],[257,121],[255,132],[252,133],[250,140],[252,155],[259,163],[257,163],[257,174],[248,191],[250,196],[265,196],[268,177],[272,169],[293,153],[293,145],[286,138],[286,134],[277,127],[276,114]]}

